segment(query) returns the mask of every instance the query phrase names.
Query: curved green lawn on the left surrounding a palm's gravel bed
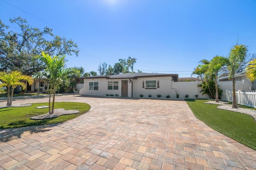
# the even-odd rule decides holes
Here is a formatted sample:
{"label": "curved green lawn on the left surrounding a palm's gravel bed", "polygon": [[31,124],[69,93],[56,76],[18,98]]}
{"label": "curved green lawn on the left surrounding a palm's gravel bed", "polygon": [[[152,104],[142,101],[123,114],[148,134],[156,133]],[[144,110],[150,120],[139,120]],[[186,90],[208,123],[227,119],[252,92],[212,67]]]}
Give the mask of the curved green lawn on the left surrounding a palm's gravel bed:
{"label": "curved green lawn on the left surrounding a palm's gravel bed", "polygon": [[0,129],[49,125],[74,119],[90,109],[90,105],[78,102],[55,102],[54,109],[79,110],[77,114],[62,115],[52,119],[33,120],[32,116],[48,113],[49,108],[37,109],[36,106],[48,106],[48,103],[37,103],[27,107],[6,107],[0,109]]}

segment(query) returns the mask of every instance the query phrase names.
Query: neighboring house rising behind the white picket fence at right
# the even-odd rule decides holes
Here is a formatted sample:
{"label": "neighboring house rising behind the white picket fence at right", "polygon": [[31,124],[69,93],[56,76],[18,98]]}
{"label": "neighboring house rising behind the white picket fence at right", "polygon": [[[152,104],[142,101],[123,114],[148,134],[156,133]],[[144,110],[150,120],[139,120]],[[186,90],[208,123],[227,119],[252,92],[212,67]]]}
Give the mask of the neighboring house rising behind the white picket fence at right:
{"label": "neighboring house rising behind the white picket fence at right", "polygon": [[[245,76],[245,72],[235,74],[236,90],[255,90],[256,81],[251,82]],[[218,78],[220,88],[222,90],[232,90],[232,78],[228,79],[228,76]]]}

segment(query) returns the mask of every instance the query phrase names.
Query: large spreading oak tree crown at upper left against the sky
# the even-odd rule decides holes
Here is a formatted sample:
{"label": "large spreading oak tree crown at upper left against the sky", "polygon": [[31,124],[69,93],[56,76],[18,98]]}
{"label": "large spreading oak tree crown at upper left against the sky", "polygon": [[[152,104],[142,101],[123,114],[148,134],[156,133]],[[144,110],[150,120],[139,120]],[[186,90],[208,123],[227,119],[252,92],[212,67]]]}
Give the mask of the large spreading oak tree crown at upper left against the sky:
{"label": "large spreading oak tree crown at upper left against the sky", "polygon": [[0,71],[18,70],[23,74],[32,75],[44,70],[44,63],[34,57],[42,51],[50,56],[78,56],[76,43],[54,35],[49,27],[46,26],[43,30],[31,27],[20,17],[10,19],[10,22],[18,31],[10,30],[9,24],[6,25],[0,20]]}

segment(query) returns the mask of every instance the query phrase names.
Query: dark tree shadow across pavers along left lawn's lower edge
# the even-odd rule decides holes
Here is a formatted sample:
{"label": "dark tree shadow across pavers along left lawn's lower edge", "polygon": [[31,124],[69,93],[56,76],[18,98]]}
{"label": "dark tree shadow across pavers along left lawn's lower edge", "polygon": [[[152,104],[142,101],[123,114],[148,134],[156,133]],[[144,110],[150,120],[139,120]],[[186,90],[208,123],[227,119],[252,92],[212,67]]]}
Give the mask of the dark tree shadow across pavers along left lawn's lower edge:
{"label": "dark tree shadow across pavers along left lawn's lower edge", "polygon": [[[22,123],[22,121],[12,122],[10,124],[20,125],[20,123]],[[18,128],[11,128],[11,129],[2,129],[3,128],[2,126],[0,127],[0,142],[8,142],[8,141],[12,141],[13,139],[19,139],[22,137],[22,134],[26,132],[33,134],[33,133],[50,131],[52,130],[50,127],[53,127],[55,125],[56,124],[35,126],[34,123],[28,123],[27,127],[18,127]]]}

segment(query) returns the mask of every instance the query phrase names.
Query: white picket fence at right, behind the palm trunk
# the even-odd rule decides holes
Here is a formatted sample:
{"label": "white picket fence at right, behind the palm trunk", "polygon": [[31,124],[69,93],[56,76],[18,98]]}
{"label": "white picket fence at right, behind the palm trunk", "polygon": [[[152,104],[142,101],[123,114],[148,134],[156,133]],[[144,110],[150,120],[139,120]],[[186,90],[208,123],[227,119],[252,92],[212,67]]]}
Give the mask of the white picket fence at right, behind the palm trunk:
{"label": "white picket fence at right, behind the palm trunk", "polygon": [[[226,90],[222,92],[222,100],[232,102],[232,91]],[[236,102],[238,104],[256,108],[256,91],[236,91]]]}

